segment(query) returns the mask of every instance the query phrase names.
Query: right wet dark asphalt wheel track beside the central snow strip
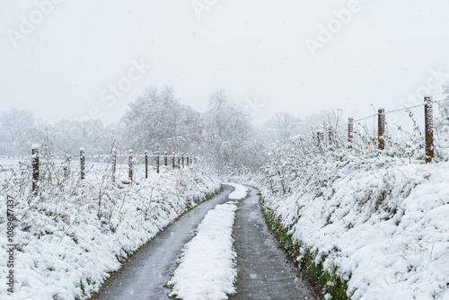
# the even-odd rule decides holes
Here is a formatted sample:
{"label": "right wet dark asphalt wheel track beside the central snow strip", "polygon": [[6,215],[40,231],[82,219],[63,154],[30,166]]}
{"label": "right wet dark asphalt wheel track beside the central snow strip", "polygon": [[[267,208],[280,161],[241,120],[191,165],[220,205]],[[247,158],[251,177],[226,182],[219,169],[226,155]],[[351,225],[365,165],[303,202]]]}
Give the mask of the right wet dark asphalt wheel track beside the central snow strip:
{"label": "right wet dark asphalt wheel track beside the central snow strip", "polygon": [[237,293],[229,299],[318,300],[285,251],[277,247],[262,215],[258,190],[250,190],[233,227],[238,279]]}

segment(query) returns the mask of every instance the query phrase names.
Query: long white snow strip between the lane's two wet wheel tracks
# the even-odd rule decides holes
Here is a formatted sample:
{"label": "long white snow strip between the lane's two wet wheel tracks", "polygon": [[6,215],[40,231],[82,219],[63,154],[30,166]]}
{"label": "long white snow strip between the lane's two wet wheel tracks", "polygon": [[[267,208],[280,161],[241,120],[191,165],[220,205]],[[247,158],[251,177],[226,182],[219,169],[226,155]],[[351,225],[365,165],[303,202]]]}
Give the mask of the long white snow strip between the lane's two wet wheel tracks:
{"label": "long white snow strip between the lane's two wet wheel tracks", "polygon": [[222,300],[235,293],[237,276],[233,223],[237,204],[217,205],[207,212],[196,236],[182,251],[168,286],[171,296],[184,300]]}

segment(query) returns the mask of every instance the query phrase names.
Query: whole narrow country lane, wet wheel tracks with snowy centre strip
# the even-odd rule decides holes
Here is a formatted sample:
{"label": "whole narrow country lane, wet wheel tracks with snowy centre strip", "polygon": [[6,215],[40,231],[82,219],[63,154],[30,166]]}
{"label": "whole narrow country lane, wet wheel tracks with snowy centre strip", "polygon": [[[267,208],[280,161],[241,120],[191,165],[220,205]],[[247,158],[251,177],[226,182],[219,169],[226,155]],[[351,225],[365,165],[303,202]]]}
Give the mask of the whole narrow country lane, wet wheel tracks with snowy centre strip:
{"label": "whole narrow country lane, wet wheel tracks with snowy centre strip", "polygon": [[92,299],[170,294],[186,300],[318,299],[277,247],[258,190],[231,183],[154,237]]}

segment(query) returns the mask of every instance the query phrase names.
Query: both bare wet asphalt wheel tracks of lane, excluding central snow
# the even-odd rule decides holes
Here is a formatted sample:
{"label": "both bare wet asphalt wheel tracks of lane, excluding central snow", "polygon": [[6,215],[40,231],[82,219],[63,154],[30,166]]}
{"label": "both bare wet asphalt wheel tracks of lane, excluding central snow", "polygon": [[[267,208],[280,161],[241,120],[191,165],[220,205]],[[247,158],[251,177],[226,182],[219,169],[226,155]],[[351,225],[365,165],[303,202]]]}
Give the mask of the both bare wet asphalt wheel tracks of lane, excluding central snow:
{"label": "both bare wet asphalt wheel tracks of lane, excluding central snow", "polygon": [[[101,287],[91,300],[171,299],[163,287],[176,269],[176,261],[186,243],[195,234],[207,211],[225,203],[233,190],[225,190],[193,208],[163,233],[154,237],[128,260],[119,272]],[[239,201],[233,238],[237,252],[237,293],[230,299],[315,300],[312,288],[300,278],[295,266],[277,248],[276,240],[265,224],[260,210],[258,190]]]}

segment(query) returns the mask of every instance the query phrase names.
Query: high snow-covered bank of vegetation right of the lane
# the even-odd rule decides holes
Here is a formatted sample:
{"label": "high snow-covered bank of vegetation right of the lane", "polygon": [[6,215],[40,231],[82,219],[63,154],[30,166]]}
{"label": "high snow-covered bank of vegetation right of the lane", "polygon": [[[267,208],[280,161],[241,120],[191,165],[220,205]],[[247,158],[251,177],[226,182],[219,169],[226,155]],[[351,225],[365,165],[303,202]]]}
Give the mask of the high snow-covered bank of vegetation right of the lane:
{"label": "high snow-covered bank of vegetation right of the lane", "polygon": [[447,298],[447,159],[426,164],[397,149],[301,139],[275,148],[263,178],[247,182],[260,188],[273,229],[327,297]]}

